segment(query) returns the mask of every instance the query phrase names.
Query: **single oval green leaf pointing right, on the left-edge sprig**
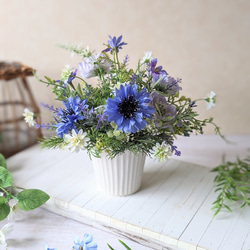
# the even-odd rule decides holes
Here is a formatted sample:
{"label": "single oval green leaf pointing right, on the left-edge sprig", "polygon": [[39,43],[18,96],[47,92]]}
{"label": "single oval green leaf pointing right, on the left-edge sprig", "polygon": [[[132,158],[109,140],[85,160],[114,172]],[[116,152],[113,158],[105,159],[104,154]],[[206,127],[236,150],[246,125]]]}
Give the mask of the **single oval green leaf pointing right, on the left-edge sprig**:
{"label": "single oval green leaf pointing right, on the left-edge sprig", "polygon": [[48,199],[49,195],[39,189],[27,189],[17,195],[18,207],[28,211],[42,206]]}

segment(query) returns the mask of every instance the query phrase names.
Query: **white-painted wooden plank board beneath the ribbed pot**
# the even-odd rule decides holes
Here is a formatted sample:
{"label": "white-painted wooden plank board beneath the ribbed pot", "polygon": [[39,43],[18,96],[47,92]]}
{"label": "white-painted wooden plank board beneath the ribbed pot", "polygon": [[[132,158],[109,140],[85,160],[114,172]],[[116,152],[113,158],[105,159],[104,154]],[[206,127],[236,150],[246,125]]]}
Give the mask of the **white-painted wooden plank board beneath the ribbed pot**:
{"label": "white-painted wooden plank board beneath the ribbed pot", "polygon": [[8,166],[16,185],[50,194],[46,209],[154,249],[250,249],[249,208],[213,218],[214,174],[203,166],[147,159],[141,189],[127,197],[96,190],[84,152],[34,146],[9,158]]}

